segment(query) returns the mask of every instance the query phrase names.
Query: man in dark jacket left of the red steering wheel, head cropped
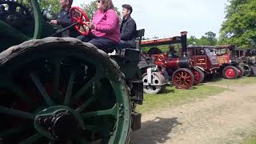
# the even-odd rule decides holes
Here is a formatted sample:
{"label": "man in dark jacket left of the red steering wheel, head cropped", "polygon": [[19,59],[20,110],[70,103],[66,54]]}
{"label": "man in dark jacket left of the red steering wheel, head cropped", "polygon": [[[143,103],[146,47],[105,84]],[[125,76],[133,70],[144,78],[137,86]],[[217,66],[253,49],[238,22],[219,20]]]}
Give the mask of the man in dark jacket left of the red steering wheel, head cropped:
{"label": "man in dark jacket left of the red steering wheel, head cropped", "polygon": [[[59,4],[62,7],[62,10],[57,14],[57,19],[51,20],[50,24],[61,25],[62,28],[72,25],[70,19],[70,8],[72,6],[73,0],[59,0]],[[62,37],[78,37],[78,31],[74,27],[71,27],[69,30],[62,32]]]}

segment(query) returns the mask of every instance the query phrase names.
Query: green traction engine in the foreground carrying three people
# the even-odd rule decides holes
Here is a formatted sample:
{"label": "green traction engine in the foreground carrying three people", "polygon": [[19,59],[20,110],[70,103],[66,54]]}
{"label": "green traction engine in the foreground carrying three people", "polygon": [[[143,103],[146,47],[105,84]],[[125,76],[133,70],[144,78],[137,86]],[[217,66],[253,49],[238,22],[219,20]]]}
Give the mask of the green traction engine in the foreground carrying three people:
{"label": "green traction engine in the foreground carrying three people", "polygon": [[[110,57],[76,38],[50,37],[63,29],[46,22],[38,2],[0,0],[0,143],[128,143],[141,124],[134,109],[143,98],[144,30],[138,49]],[[80,27],[85,15],[74,10]]]}

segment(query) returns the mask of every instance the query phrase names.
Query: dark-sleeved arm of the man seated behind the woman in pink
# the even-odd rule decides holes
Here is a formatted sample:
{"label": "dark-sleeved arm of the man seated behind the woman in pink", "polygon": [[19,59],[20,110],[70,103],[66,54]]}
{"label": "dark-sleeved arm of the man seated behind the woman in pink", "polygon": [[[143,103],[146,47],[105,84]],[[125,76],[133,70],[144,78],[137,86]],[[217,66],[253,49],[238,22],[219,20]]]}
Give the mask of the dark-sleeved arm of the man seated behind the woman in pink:
{"label": "dark-sleeved arm of the man seated behind the woman in pink", "polygon": [[127,22],[126,30],[124,30],[121,34],[121,40],[130,40],[134,38],[134,33],[136,31],[136,23],[134,20]]}

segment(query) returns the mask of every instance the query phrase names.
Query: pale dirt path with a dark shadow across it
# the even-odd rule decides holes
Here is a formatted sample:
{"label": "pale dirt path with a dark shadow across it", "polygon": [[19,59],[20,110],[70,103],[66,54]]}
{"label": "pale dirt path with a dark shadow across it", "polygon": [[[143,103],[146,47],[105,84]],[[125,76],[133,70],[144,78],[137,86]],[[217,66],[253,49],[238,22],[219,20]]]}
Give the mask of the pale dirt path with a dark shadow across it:
{"label": "pale dirt path with a dark shadow across it", "polygon": [[131,144],[238,143],[256,134],[256,85],[142,115]]}

